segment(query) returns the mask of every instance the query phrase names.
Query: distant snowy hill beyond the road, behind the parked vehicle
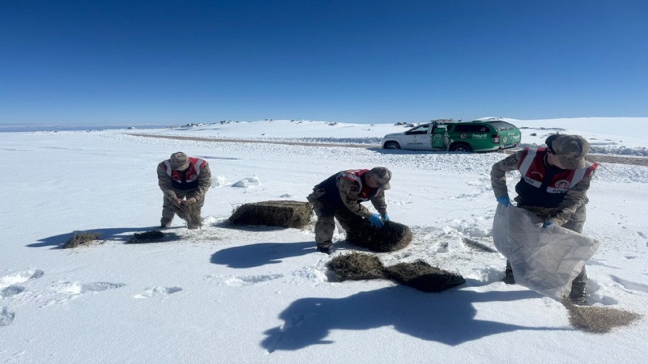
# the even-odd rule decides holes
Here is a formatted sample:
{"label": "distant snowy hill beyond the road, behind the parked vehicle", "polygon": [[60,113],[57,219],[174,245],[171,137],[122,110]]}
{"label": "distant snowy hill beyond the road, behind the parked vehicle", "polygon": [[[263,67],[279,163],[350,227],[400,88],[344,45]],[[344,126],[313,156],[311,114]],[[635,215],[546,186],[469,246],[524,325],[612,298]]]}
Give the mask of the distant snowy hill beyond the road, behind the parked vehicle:
{"label": "distant snowy hill beyond the road, behind the parked vehicle", "polygon": [[[487,118],[481,118],[487,119]],[[646,118],[577,118],[577,119],[506,119],[522,130],[522,145],[544,145],[552,133],[583,135],[592,144],[592,153],[619,155],[648,155]],[[349,124],[309,120],[261,120],[228,122],[172,129],[140,130],[141,133],[183,135],[213,138],[242,138],[375,144],[389,133],[399,133],[412,124]]]}

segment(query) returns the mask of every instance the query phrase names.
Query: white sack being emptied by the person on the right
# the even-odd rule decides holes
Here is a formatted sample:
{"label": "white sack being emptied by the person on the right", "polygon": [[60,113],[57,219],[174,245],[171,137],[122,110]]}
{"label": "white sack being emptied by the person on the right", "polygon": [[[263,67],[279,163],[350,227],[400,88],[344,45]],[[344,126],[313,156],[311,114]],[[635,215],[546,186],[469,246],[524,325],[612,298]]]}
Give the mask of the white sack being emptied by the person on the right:
{"label": "white sack being emptied by the person on the right", "polygon": [[559,301],[601,244],[564,227],[542,229],[542,220],[532,212],[499,203],[492,238],[511,262],[516,284]]}

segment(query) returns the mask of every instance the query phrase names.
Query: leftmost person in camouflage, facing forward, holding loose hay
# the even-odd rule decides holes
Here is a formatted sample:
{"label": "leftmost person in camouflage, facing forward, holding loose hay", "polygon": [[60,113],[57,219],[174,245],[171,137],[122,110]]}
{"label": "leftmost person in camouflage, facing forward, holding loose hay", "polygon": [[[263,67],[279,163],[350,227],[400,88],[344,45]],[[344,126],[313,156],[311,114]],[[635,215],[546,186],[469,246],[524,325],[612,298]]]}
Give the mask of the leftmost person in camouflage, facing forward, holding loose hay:
{"label": "leftmost person in camouflage, facing forward, holding loose hay", "polygon": [[157,165],[157,185],[164,194],[160,225],[170,227],[176,215],[174,206],[181,215],[179,211],[183,209],[185,198],[186,201],[197,203],[198,208],[202,209],[207,189],[211,187],[209,163],[204,159],[189,157],[183,152],[174,153]]}

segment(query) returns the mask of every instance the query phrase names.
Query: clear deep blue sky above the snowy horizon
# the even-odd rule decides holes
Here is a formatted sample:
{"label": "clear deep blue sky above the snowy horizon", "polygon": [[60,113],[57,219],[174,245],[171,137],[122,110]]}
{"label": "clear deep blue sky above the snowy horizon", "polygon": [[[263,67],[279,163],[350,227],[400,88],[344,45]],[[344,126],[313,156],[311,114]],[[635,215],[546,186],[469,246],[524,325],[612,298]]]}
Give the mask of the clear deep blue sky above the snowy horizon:
{"label": "clear deep blue sky above the snowy horizon", "polygon": [[0,0],[0,123],[648,116],[645,0]]}

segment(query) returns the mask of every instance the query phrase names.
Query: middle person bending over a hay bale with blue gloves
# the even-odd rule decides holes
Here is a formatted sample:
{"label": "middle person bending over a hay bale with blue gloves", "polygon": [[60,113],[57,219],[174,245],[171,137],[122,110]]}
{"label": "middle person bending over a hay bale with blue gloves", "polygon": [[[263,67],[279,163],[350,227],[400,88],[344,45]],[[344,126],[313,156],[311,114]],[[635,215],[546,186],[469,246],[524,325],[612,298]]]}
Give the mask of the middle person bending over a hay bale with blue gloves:
{"label": "middle person bending over a hay bale with blue gloves", "polygon": [[[382,227],[388,221],[385,190],[391,188],[391,172],[384,167],[371,170],[344,170],[325,179],[313,188],[308,201],[313,205],[318,222],[315,224],[315,242],[321,253],[330,253],[334,218],[338,219],[345,231],[354,225],[353,220],[365,218],[373,227]],[[371,201],[380,214],[374,214],[362,206]]]}

